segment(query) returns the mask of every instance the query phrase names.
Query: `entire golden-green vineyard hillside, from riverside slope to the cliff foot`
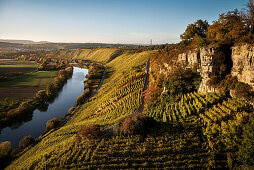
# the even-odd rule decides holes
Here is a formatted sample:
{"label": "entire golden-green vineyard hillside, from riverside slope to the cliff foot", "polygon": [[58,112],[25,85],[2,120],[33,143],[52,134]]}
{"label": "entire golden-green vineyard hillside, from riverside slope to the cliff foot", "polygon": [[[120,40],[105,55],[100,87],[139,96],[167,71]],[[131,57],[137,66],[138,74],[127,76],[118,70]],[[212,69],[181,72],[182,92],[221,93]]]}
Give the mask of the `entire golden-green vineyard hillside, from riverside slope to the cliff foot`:
{"label": "entire golden-green vineyard hillside, from riverside slope to the cliff foot", "polygon": [[77,140],[82,127],[100,125],[107,129],[140,109],[145,64],[153,53],[124,52],[106,63],[107,75],[98,93],[66,125],[46,134],[7,169],[234,167],[243,127],[253,110],[224,93],[194,91],[177,102],[158,100],[144,112],[154,121],[145,135]]}

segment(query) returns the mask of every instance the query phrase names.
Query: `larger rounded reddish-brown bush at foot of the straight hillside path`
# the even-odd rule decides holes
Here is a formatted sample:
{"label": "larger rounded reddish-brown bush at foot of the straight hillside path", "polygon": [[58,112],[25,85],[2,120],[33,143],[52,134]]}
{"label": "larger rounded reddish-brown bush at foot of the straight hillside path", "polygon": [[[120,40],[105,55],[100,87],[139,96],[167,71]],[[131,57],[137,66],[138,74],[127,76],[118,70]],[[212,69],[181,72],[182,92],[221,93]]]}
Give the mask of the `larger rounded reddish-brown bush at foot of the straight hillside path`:
{"label": "larger rounded reddish-brown bush at foot of the straight hillside path", "polygon": [[120,133],[123,135],[142,135],[146,133],[148,117],[135,115],[125,118],[120,125]]}

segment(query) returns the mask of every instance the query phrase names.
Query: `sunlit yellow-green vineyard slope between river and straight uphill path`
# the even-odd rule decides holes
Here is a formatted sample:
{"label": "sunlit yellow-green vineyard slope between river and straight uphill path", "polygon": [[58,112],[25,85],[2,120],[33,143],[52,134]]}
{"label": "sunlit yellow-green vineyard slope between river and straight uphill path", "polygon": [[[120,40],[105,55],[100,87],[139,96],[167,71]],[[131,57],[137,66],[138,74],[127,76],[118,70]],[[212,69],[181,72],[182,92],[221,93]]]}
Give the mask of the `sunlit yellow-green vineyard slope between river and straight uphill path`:
{"label": "sunlit yellow-green vineyard slope between river and straight uphill path", "polygon": [[[45,137],[7,169],[48,169],[56,166],[78,168],[91,164],[91,161],[93,162],[91,155],[94,149],[100,146],[100,142],[90,141],[93,143],[92,146],[89,141],[75,144],[76,132],[85,125],[111,125],[139,107],[144,82],[144,66],[153,53],[153,51],[145,51],[129,54],[127,51],[109,62],[106,65],[108,76],[91,101],[83,105],[64,127]],[[104,57],[101,55],[93,60],[103,61],[106,58]]]}

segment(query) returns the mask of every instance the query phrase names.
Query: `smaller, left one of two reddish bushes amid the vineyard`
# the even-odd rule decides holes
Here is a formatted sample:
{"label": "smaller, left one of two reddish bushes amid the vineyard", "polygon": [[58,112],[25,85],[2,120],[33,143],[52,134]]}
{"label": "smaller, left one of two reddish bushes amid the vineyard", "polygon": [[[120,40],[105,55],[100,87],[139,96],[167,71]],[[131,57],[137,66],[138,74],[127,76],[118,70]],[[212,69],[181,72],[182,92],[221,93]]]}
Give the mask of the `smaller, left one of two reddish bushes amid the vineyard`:
{"label": "smaller, left one of two reddish bushes amid the vineyard", "polygon": [[98,139],[101,136],[101,126],[91,125],[82,127],[76,134],[78,141],[81,139]]}

